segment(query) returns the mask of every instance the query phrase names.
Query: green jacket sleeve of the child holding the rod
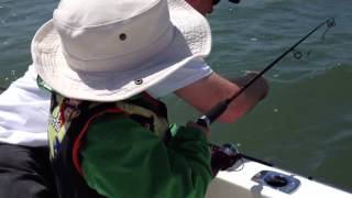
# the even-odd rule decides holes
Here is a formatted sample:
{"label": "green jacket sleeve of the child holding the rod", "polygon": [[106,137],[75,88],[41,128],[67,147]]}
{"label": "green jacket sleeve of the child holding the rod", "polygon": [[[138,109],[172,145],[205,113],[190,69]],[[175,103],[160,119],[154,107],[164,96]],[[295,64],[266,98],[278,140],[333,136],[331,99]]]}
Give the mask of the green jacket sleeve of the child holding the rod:
{"label": "green jacket sleeve of the child holding the rod", "polygon": [[193,128],[178,128],[166,146],[133,120],[106,114],[80,153],[87,184],[106,197],[204,197],[211,180],[207,139]]}

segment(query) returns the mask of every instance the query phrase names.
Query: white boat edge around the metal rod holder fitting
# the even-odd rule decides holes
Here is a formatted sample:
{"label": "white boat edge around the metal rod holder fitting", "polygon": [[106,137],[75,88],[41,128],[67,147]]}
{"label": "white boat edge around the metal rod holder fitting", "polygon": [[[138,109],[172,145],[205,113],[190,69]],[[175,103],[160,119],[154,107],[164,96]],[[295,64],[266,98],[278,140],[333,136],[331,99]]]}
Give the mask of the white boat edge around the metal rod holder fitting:
{"label": "white boat edge around the metal rod holder fitting", "polygon": [[[219,172],[210,184],[207,198],[352,198],[352,194],[301,177],[276,167],[246,161],[237,164],[238,170]],[[289,194],[265,183],[252,180],[262,170],[273,170],[299,180],[299,186]]]}

